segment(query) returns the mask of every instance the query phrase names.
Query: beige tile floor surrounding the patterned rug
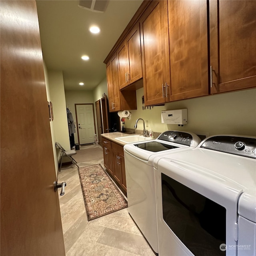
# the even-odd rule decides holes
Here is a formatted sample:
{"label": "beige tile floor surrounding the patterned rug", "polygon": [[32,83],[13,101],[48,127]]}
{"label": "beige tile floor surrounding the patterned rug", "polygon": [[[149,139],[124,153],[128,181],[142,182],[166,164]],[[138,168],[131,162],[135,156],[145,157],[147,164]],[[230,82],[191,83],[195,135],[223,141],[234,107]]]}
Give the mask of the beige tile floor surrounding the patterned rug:
{"label": "beige tile floor surrounding the patterned rug", "polygon": [[[80,150],[91,147],[101,148],[90,145]],[[78,165],[92,164],[104,168],[103,152],[99,159]],[[59,198],[66,256],[154,256],[127,208],[88,222],[77,168],[62,168],[58,182],[63,181],[67,186]]]}

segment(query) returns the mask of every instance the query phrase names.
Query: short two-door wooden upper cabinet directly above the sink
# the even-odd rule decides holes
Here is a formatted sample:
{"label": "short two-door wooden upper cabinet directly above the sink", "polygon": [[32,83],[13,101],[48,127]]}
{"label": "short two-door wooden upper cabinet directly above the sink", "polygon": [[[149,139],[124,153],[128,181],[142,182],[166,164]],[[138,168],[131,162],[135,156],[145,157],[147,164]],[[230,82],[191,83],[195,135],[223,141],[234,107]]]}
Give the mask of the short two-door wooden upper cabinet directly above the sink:
{"label": "short two-door wooden upper cabinet directly above the sink", "polygon": [[136,24],[117,50],[119,88],[142,78],[140,27]]}

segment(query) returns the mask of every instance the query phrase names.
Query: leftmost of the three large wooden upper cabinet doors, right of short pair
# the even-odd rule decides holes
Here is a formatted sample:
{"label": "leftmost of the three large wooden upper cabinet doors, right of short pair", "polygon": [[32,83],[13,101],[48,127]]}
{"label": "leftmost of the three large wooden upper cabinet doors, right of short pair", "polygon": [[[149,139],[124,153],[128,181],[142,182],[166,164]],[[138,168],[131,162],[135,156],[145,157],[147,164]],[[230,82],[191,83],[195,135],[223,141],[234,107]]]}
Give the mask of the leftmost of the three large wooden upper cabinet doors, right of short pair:
{"label": "leftmost of the three large wooden upper cabinet doors, right of short pair", "polygon": [[152,1],[140,18],[145,105],[169,101],[170,66],[166,1]]}

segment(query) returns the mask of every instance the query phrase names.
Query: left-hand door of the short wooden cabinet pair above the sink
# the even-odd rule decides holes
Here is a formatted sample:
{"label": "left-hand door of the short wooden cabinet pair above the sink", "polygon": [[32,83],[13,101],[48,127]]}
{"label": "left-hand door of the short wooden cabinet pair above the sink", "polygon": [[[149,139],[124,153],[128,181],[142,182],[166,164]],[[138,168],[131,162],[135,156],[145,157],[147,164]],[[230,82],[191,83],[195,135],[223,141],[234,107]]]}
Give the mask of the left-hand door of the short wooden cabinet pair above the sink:
{"label": "left-hand door of the short wooden cabinet pair above the sink", "polygon": [[119,89],[128,85],[128,52],[127,52],[126,40],[119,46],[117,50],[117,62],[118,62],[118,85]]}

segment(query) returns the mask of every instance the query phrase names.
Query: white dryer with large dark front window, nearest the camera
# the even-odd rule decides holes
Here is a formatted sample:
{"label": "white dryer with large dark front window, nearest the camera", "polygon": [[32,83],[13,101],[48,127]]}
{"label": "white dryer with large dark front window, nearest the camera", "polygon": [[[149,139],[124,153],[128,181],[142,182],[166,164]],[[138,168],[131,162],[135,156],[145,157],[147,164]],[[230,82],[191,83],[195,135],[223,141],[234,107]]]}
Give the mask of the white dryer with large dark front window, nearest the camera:
{"label": "white dryer with large dark front window, nearest the camera", "polygon": [[159,256],[256,255],[256,137],[154,159]]}

